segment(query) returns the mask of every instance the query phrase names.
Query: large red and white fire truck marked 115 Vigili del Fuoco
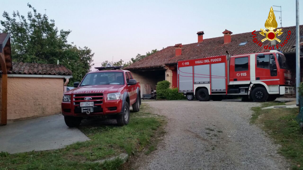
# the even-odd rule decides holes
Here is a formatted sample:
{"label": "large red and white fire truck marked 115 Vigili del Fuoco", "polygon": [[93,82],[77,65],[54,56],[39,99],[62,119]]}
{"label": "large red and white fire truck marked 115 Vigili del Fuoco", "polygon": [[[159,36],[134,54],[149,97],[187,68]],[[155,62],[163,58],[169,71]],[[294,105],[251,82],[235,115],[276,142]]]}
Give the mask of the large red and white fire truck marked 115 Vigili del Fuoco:
{"label": "large red and white fire truck marked 115 Vigili del Fuoco", "polygon": [[276,50],[183,60],[177,67],[179,92],[188,100],[220,101],[234,95],[265,102],[294,93],[286,58]]}

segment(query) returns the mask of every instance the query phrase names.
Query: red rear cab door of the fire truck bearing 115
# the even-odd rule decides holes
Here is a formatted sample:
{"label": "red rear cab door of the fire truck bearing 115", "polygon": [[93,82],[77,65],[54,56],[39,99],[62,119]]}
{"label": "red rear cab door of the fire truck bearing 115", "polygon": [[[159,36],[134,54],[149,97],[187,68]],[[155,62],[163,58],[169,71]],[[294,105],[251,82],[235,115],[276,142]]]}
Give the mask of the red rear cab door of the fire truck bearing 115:
{"label": "red rear cab door of the fire truck bearing 115", "polygon": [[234,83],[241,82],[243,84],[250,83],[250,55],[231,57],[229,81]]}

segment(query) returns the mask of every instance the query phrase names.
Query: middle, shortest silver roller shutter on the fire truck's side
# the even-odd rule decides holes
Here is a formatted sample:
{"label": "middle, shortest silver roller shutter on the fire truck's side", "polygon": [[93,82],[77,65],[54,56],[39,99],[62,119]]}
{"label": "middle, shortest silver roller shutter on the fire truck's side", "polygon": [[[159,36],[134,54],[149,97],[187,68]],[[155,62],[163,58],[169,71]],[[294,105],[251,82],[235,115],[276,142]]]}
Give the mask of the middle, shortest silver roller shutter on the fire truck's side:
{"label": "middle, shortest silver roller shutter on the fire truck's side", "polygon": [[209,64],[194,66],[195,83],[210,83]]}

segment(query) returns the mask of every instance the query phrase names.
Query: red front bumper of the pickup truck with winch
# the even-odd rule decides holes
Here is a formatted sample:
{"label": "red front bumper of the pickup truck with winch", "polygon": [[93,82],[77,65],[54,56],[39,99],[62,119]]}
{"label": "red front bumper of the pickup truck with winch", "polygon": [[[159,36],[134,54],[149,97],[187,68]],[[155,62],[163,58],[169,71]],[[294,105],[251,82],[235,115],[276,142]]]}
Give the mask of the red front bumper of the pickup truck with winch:
{"label": "red front bumper of the pickup truck with winch", "polygon": [[[103,97],[102,103],[95,104],[93,106],[93,112],[86,114],[86,112],[81,111],[79,104],[75,104],[75,101],[72,99],[71,102],[62,102],[62,114],[64,116],[80,116],[80,117],[91,117],[91,116],[106,116],[119,114],[122,111],[123,104],[125,101],[120,100],[107,100],[107,95]],[[89,100],[88,100],[89,101]]]}

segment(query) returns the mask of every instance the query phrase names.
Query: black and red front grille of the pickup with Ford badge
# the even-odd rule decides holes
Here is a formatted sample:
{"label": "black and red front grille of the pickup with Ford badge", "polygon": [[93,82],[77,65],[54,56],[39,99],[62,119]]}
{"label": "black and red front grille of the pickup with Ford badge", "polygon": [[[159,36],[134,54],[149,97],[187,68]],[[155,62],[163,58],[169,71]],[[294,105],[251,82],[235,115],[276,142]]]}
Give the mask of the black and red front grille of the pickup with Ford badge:
{"label": "black and red front grille of the pickup with Ford badge", "polygon": [[[85,97],[91,97],[91,100],[84,100]],[[90,114],[103,113],[102,103],[103,103],[103,93],[84,93],[84,94],[74,94],[73,104],[75,114],[85,114],[81,112],[80,102],[94,102],[94,111]]]}

